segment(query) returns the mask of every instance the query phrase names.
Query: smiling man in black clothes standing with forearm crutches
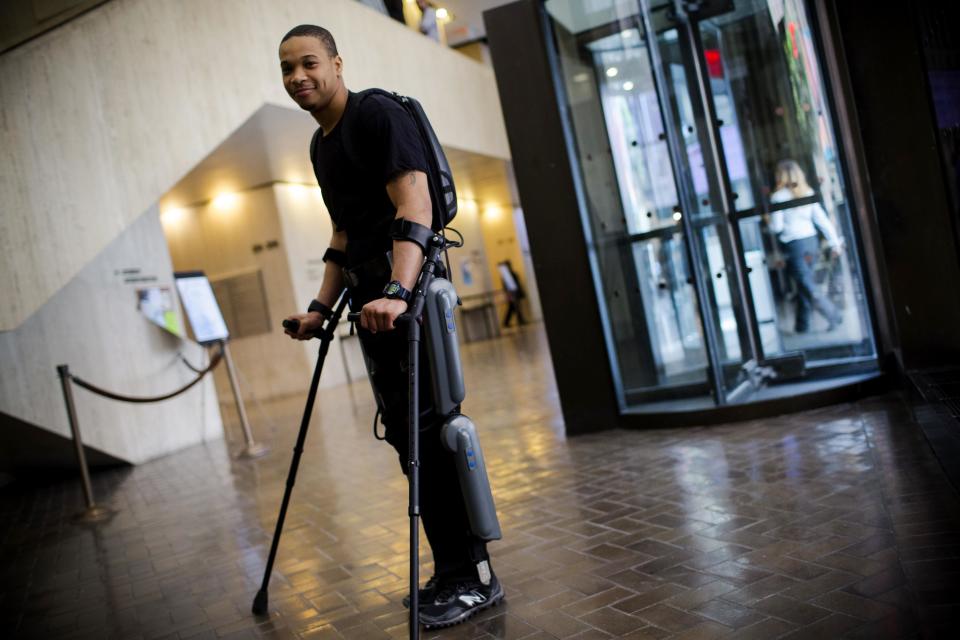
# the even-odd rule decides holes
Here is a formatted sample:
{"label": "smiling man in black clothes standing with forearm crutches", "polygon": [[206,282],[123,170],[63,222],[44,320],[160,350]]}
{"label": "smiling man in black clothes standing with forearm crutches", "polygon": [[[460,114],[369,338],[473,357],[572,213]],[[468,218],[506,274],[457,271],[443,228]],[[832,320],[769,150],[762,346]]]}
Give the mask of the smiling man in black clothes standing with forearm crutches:
{"label": "smiling man in black clothes standing with forearm crutches", "polygon": [[[391,225],[397,218],[432,224],[427,151],[401,105],[378,95],[360,100],[347,91],[343,60],[326,29],[301,25],[287,33],[280,44],[280,69],[287,93],[320,125],[314,168],[334,227],[320,292],[307,313],[290,316],[300,329],[287,333],[309,339],[343,287],[349,287],[351,308],[361,309],[358,334],[386,440],[406,473],[407,342],[404,332],[394,330],[394,321],[407,309],[404,298],[424,255],[418,244],[392,238]],[[344,123],[350,123],[350,131],[338,126]],[[392,264],[387,252],[392,252]],[[427,358],[420,362],[426,364]],[[420,507],[434,575],[420,589],[419,616],[434,628],[457,624],[496,604],[503,589],[490,570],[486,544],[470,532],[454,458],[440,443],[445,416],[433,410],[425,366],[421,375]]]}

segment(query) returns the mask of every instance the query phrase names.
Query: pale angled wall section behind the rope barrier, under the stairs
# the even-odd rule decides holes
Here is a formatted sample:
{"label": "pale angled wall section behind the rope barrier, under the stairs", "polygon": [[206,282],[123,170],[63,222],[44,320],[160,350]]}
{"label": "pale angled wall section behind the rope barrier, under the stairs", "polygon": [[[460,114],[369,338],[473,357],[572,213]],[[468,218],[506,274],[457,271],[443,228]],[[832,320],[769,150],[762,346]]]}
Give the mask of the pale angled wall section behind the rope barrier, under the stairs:
{"label": "pale angled wall section behind the rope barrier, under the stairs", "polygon": [[[180,360],[204,362],[198,345],[165,331],[138,310],[139,289],[173,292],[173,269],[156,207],[136,219],[26,322],[0,333],[0,411],[69,437],[56,367],[117,393],[151,396],[195,377]],[[174,313],[183,327],[176,301]],[[74,388],[84,442],[144,462],[223,437],[207,377],[173,399],[128,404]]]}

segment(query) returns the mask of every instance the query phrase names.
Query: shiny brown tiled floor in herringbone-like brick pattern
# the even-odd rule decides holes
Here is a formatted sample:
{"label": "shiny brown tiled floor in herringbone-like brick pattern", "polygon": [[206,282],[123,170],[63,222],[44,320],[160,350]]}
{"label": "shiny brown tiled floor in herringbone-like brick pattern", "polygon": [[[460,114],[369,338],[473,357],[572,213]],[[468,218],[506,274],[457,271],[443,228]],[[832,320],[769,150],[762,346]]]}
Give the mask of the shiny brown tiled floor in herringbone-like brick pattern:
{"label": "shiny brown tiled floor in herringbone-like brick pattern", "polygon": [[[539,329],[465,360],[507,602],[424,638],[953,637],[960,507],[897,397],[566,440]],[[0,633],[405,637],[405,482],[365,382],[321,395],[271,614],[249,613],[301,401],[266,407],[261,460],[216,443],[98,474],[119,513],[97,527],[70,522],[73,483],[0,491]]]}

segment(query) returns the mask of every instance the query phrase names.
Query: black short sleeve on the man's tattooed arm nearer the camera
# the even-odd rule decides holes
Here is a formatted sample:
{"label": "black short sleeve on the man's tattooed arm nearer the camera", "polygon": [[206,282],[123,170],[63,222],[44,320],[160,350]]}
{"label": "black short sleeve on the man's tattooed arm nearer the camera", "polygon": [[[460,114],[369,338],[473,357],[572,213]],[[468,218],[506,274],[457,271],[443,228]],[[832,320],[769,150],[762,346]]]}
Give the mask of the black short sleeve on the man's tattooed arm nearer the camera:
{"label": "black short sleeve on the man's tattooed arm nearer the camera", "polygon": [[383,184],[407,171],[427,172],[423,139],[406,109],[390,98],[372,95],[361,103],[360,115],[365,134],[360,153]]}

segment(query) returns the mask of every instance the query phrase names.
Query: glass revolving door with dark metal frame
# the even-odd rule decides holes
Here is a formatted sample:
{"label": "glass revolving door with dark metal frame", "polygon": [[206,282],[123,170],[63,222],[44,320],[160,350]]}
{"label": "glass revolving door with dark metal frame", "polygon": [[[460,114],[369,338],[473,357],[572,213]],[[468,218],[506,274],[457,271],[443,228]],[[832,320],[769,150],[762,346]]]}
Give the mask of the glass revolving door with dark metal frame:
{"label": "glass revolving door with dark metal frame", "polygon": [[542,8],[621,410],[875,370],[803,0]]}

